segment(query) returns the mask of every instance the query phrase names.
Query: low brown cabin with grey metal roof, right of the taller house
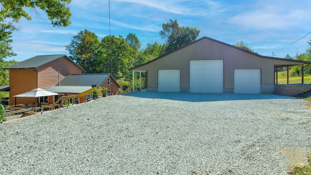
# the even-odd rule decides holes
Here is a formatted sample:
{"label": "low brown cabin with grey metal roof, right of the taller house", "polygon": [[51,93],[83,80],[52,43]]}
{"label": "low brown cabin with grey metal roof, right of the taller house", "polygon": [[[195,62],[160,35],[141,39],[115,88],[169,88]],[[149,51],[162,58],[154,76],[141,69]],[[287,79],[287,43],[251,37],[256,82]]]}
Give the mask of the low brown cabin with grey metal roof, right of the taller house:
{"label": "low brown cabin with grey metal roof, right of the taller house", "polygon": [[[89,74],[69,74],[59,85],[46,88],[45,90],[58,93],[60,96],[71,96],[82,93],[92,87],[100,88],[99,97],[103,96],[101,90],[107,88],[107,95],[117,95],[120,86],[110,73],[89,73]],[[75,99],[73,104],[83,103],[92,94],[88,94],[80,99]],[[56,102],[57,99],[53,99]],[[51,100],[49,99],[49,103]]]}

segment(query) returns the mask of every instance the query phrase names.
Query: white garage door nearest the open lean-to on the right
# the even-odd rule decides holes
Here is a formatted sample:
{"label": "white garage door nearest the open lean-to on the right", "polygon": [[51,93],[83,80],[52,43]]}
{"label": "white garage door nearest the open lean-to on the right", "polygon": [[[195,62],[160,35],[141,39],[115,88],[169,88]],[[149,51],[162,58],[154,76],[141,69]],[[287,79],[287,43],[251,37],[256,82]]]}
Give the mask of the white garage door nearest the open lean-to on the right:
{"label": "white garage door nearest the open lean-to on the right", "polygon": [[260,93],[260,69],[234,70],[234,93]]}

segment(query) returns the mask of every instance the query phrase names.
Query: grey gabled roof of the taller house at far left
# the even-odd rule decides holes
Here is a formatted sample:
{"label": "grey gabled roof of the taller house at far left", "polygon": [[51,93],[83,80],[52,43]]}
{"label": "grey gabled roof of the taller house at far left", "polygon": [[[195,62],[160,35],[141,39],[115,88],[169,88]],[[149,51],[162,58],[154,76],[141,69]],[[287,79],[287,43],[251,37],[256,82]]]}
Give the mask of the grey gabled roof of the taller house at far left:
{"label": "grey gabled roof of the taller house at far left", "polygon": [[85,71],[83,68],[81,68],[76,62],[74,62],[72,59],[70,59],[65,54],[56,54],[56,55],[38,55],[32,58],[29,58],[27,60],[18,62],[16,64],[13,64],[11,66],[8,66],[4,69],[36,69],[38,67],[41,67],[43,65],[46,65],[48,63],[51,63],[52,61],[55,61],[59,58],[66,57],[74,63],[77,67],[79,67],[81,70]]}

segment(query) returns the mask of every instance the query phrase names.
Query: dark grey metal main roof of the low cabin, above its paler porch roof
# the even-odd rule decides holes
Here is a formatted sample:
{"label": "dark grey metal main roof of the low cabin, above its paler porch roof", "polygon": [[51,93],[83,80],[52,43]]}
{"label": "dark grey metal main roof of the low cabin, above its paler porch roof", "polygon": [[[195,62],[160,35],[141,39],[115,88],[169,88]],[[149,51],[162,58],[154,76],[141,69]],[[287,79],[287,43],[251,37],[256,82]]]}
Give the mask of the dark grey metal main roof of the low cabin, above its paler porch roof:
{"label": "dark grey metal main roof of the low cabin, above its paler porch roof", "polygon": [[[110,73],[69,74],[59,82],[59,86],[101,86],[109,76]],[[116,82],[113,77],[112,79]],[[118,85],[117,82],[116,84]],[[119,85],[118,87],[120,88]]]}

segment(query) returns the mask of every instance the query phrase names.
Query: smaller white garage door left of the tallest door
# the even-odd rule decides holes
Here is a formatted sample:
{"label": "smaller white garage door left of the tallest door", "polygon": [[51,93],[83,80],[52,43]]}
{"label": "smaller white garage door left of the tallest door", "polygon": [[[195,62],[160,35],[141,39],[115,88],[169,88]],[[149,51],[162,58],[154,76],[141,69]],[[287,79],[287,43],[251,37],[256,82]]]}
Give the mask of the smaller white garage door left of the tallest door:
{"label": "smaller white garage door left of the tallest door", "polygon": [[158,92],[180,91],[180,70],[158,70],[157,79]]}

